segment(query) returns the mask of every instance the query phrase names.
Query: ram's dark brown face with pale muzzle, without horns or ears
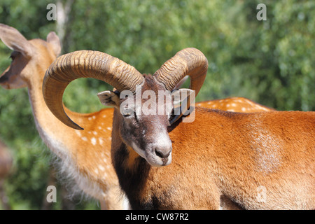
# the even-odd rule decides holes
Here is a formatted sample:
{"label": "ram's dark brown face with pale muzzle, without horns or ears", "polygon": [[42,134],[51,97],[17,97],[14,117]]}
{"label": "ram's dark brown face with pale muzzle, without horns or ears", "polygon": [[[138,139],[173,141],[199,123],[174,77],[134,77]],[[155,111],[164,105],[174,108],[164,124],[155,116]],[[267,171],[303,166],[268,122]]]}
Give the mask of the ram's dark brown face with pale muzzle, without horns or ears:
{"label": "ram's dark brown face with pale muzzle, without horns or ears", "polygon": [[[143,99],[141,95],[146,90],[153,91],[157,96],[155,99],[150,99],[156,103],[155,111],[152,111],[153,107],[151,108],[151,105],[147,104],[148,99]],[[172,161],[172,141],[167,132],[171,111],[163,109],[163,113],[161,113],[162,109],[159,106],[165,106],[166,99],[163,104],[159,105],[159,90],[165,91],[165,87],[158,83],[153,76],[145,76],[144,85],[139,89],[140,95],[137,95],[139,94],[137,91],[134,97],[121,99],[120,102],[120,105],[128,105],[120,109],[121,116],[123,116],[120,128],[121,137],[125,144],[145,158],[150,165],[157,167],[169,165]],[[130,105],[133,105],[132,110],[130,110]],[[155,113],[148,114],[145,109],[151,109],[151,112]]]}

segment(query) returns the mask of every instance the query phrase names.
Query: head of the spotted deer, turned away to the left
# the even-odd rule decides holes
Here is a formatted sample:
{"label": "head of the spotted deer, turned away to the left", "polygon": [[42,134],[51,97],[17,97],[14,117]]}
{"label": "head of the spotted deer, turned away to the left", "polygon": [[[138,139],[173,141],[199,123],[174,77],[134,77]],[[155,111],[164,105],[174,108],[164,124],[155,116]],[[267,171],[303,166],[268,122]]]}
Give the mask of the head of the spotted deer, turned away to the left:
{"label": "head of the spotted deer, turned away to the left", "polygon": [[[17,29],[0,24],[0,38],[13,50],[10,55],[12,62],[0,78],[0,85],[5,89],[26,87],[34,73],[38,73],[38,66],[47,68],[61,50],[59,38],[53,31],[48,34],[47,42],[41,39],[27,41]],[[43,55],[47,58],[38,58]]]}

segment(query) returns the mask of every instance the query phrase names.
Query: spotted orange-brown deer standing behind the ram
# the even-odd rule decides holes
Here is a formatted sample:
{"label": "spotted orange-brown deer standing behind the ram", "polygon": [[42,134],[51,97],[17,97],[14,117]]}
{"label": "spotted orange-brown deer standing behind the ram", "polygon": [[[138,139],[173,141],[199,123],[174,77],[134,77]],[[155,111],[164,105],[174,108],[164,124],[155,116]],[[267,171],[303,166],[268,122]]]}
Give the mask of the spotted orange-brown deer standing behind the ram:
{"label": "spotted orange-brown deer standing behind the ram", "polygon": [[[1,36],[1,31],[9,32],[5,33],[5,36]],[[56,45],[58,41],[55,36],[50,33],[48,34],[48,41],[34,39],[25,44],[26,40],[22,34],[6,25],[0,25],[0,34],[0,38],[10,38],[9,41],[15,41],[15,46],[20,45],[18,50],[23,50],[25,45],[28,45],[28,50],[31,49],[31,52],[26,52],[27,57],[18,51],[13,52],[15,59],[1,75],[1,86],[6,89],[28,87],[38,132],[52,152],[62,158],[66,164],[64,169],[69,173],[69,176],[76,179],[85,193],[99,200],[104,200],[105,202],[102,204],[106,204],[107,209],[123,208],[117,202],[119,193],[115,189],[118,187],[118,179],[109,162],[111,160],[109,146],[111,146],[113,109],[81,114],[69,111],[64,107],[69,117],[76,123],[82,124],[85,130],[78,132],[66,127],[50,113],[42,97],[45,70],[60,52],[59,45]],[[9,41],[6,44],[9,45]],[[238,98],[233,100],[235,104],[240,103]],[[233,101],[229,103],[232,104]],[[248,108],[253,108],[255,105],[248,104]],[[203,106],[216,108],[220,104],[216,106],[205,104]],[[133,155],[134,160],[136,160],[135,153],[130,153],[130,155]],[[87,180],[92,186],[92,190],[91,187],[80,183],[81,179]]]}

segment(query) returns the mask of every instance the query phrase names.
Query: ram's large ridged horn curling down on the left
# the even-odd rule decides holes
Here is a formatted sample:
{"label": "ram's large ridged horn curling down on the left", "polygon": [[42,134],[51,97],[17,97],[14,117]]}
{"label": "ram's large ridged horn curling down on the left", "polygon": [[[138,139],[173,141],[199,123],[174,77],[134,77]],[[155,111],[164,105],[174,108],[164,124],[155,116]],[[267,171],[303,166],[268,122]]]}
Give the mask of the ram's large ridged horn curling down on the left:
{"label": "ram's large ridged horn curling down on the left", "polygon": [[62,95],[66,86],[76,78],[97,78],[118,91],[135,92],[136,85],[141,85],[144,78],[133,66],[104,52],[78,50],[57,57],[45,73],[43,97],[52,113],[65,125],[74,129],[82,127],[66,115],[62,104]]}

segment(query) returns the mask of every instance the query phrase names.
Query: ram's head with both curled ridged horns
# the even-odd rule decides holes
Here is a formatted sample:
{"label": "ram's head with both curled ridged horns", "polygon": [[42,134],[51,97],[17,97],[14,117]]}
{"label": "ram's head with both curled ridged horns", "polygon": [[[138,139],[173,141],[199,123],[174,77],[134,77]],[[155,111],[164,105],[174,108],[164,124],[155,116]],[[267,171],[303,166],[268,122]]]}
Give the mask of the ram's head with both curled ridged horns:
{"label": "ram's head with both curled ridged horns", "polygon": [[[98,94],[102,104],[114,106],[113,127],[117,125],[123,142],[153,166],[169,165],[172,141],[167,127],[186,113],[193,96],[200,91],[208,62],[200,50],[186,48],[176,53],[151,75],[142,75],[133,66],[103,52],[81,50],[58,57],[43,80],[43,96],[48,108],[69,127],[82,128],[66,116],[62,95],[76,78],[97,78],[115,87]],[[190,90],[171,92],[185,76]],[[191,91],[193,90],[193,91]],[[181,99],[186,103],[176,110]],[[176,113],[177,111],[177,113]]]}

